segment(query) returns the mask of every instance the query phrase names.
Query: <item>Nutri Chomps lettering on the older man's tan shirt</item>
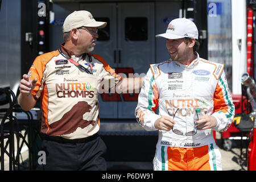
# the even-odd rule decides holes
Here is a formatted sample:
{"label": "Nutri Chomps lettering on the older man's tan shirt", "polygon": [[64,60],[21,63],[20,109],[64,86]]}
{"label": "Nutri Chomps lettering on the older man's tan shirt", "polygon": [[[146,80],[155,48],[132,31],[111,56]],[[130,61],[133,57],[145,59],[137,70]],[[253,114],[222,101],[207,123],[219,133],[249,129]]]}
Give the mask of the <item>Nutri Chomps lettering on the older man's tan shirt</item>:
{"label": "Nutri Chomps lettering on the older man's tan shirt", "polygon": [[59,98],[64,97],[83,97],[93,98],[94,91],[92,85],[87,83],[61,83],[56,84],[56,94]]}

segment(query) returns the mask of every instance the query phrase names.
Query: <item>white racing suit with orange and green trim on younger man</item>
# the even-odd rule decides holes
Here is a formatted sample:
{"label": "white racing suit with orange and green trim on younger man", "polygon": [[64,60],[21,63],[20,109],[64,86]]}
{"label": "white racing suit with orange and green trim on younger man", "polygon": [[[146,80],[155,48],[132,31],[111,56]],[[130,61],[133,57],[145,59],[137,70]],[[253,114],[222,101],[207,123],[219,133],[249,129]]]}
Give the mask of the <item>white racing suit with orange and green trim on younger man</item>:
{"label": "white racing suit with orange and green trim on younger man", "polygon": [[[157,130],[154,126],[156,119],[163,115],[173,118],[176,112],[175,125],[179,125],[183,133],[186,133],[187,123],[193,122],[198,107],[204,114],[216,118],[217,126],[213,130],[226,131],[231,125],[234,105],[224,65],[201,59],[196,54],[196,59],[189,65],[172,60],[150,65],[135,109],[137,121],[144,129]],[[157,108],[159,114],[155,113]],[[214,149],[220,155],[212,129],[198,130],[192,136],[177,135],[172,130],[159,130],[154,169],[167,169],[165,166],[168,166],[168,162],[164,156],[168,153],[168,147],[194,148],[206,145],[209,145],[209,151]],[[218,160],[221,160],[221,156]],[[221,164],[217,167],[221,169]]]}

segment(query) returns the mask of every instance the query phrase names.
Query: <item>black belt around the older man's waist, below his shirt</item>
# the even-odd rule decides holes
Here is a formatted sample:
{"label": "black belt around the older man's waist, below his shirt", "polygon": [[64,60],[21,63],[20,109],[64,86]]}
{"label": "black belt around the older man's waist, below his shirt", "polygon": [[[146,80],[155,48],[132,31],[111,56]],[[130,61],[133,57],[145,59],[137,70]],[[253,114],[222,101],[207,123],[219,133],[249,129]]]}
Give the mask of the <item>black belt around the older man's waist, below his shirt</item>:
{"label": "black belt around the older man's waist, below his shirt", "polygon": [[98,133],[85,137],[85,138],[79,138],[79,139],[67,139],[59,136],[48,136],[44,133],[40,133],[45,140],[54,141],[54,142],[60,142],[60,143],[84,143],[84,142],[90,142],[93,139],[96,139],[98,137]]}

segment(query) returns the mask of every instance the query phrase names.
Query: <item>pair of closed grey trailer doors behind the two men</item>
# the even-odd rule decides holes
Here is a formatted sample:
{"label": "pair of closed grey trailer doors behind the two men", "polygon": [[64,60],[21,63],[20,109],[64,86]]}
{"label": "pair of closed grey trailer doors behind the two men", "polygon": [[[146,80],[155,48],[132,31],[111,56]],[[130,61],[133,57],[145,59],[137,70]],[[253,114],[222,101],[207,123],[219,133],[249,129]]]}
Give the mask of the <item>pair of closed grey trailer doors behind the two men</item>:
{"label": "pair of closed grey trailer doors behind the two men", "polygon": [[[101,55],[117,73],[144,76],[155,61],[154,3],[82,3],[94,19],[108,22],[98,30],[92,53]],[[130,74],[131,76],[131,74]],[[135,94],[109,94],[99,97],[101,118],[133,118],[138,101]]]}

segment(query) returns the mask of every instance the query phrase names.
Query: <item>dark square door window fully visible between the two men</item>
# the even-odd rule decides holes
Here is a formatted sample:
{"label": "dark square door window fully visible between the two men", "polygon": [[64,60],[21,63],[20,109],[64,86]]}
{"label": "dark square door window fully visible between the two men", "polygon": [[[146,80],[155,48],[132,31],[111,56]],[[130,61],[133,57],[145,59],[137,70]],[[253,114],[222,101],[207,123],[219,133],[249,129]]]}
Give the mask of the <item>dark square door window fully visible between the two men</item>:
{"label": "dark square door window fully visible between the two men", "polygon": [[125,19],[125,40],[146,41],[147,40],[147,18],[131,17]]}

